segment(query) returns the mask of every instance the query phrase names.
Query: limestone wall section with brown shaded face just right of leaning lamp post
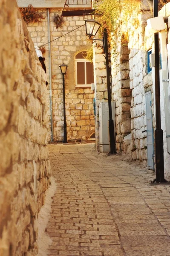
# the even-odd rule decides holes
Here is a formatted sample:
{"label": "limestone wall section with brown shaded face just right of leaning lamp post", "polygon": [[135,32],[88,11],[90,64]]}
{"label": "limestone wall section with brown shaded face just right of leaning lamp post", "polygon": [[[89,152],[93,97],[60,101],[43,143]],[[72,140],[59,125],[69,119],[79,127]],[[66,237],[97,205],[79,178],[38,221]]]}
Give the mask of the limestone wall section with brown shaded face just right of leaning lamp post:
{"label": "limestone wall section with brown shaded face just right of leaning lamp post", "polygon": [[129,49],[127,42],[121,42],[117,47],[117,55],[112,53],[112,94],[115,102],[116,150],[124,151],[123,139],[131,132],[131,89],[129,78]]}

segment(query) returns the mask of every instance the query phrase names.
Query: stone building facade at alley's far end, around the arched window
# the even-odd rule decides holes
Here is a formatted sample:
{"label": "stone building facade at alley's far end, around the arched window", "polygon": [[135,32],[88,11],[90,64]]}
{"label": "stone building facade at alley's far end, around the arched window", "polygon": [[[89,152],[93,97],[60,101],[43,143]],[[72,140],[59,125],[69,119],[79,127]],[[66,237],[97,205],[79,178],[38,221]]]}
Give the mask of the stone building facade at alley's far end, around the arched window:
{"label": "stone building facade at alley's far end, around the arched window", "polygon": [[[65,1],[62,3],[64,4],[64,2]],[[18,1],[19,6],[22,6],[22,3],[24,3],[24,1]],[[42,12],[45,19],[42,20],[42,22],[29,23],[28,30],[32,37],[32,41],[38,47],[52,41],[50,46],[51,60],[49,59],[49,44],[45,45],[46,53],[43,55],[46,58],[47,81],[49,83],[47,87],[49,93],[49,140],[63,141],[63,80],[59,67],[63,63],[68,65],[65,76],[67,139],[86,140],[95,131],[93,109],[94,93],[93,90],[91,90],[91,84],[85,87],[76,86],[75,60],[78,53],[86,52],[86,50],[92,47],[92,42],[87,41],[85,26],[82,26],[85,25],[84,20],[86,18],[91,18],[91,16],[63,17],[62,27],[56,29],[53,18],[54,15],[61,14],[61,8],[58,8],[58,6],[61,7],[62,3],[56,3],[56,8],[48,9],[50,20],[49,26],[48,11],[41,7],[43,4],[40,4],[38,6],[39,12]],[[54,4],[51,3],[51,6],[54,6]],[[83,6],[83,8],[86,8],[86,5]],[[87,8],[89,8],[89,5]],[[72,5],[69,5],[69,9],[67,7],[66,9],[75,10],[76,8],[72,8]],[[75,31],[72,31],[74,29]],[[52,79],[51,88],[50,62]]]}

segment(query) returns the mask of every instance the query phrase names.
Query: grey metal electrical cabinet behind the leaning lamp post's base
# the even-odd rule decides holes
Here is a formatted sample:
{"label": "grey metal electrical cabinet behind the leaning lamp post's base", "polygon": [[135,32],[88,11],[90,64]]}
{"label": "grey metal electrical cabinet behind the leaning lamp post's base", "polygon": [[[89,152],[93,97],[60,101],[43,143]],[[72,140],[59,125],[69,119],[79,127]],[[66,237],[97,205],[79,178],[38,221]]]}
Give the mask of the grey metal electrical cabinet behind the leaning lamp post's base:
{"label": "grey metal electrical cabinet behind the leaning lamp post's base", "polygon": [[[115,133],[115,102],[112,102],[112,119]],[[108,102],[99,103],[99,150],[101,153],[109,153],[109,107]],[[115,134],[114,134],[115,135]]]}

